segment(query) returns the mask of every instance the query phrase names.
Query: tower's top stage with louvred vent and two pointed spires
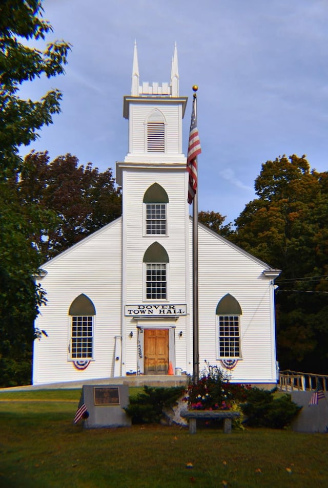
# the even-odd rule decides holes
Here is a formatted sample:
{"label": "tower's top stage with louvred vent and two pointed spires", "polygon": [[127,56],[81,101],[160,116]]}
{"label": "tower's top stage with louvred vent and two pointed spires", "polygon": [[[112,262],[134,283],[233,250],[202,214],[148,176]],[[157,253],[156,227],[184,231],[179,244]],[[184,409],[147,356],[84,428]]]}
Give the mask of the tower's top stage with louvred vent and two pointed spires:
{"label": "tower's top stage with louvred vent and two pointed spires", "polygon": [[124,97],[123,116],[129,121],[129,149],[124,162],[116,162],[116,181],[133,168],[175,168],[185,171],[182,151],[182,119],[187,97],[179,96],[176,44],[169,82],[140,83],[137,45],[134,43],[131,95]]}

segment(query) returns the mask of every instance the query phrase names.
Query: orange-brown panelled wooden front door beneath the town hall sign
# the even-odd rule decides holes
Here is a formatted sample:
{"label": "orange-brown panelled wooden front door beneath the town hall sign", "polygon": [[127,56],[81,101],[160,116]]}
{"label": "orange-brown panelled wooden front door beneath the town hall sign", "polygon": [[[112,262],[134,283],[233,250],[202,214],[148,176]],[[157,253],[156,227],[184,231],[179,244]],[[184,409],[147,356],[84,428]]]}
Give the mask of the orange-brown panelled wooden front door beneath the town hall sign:
{"label": "orange-brown panelled wooden front door beneath the town hall sign", "polygon": [[169,329],[144,329],[144,374],[168,374]]}

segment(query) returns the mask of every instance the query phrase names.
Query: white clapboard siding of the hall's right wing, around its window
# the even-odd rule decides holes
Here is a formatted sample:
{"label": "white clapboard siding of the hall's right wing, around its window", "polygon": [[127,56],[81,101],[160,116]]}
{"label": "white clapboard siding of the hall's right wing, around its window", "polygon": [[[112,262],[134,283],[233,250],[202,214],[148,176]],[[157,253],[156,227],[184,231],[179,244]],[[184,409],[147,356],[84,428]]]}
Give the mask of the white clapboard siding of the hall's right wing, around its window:
{"label": "white clapboard siding of the hall's right wing, around its window", "polygon": [[263,275],[268,266],[202,225],[198,236],[200,370],[206,366],[205,360],[222,368],[216,357],[215,311],[221,298],[230,293],[242,309],[242,359],[232,370],[232,378],[249,383],[274,382],[273,284]]}

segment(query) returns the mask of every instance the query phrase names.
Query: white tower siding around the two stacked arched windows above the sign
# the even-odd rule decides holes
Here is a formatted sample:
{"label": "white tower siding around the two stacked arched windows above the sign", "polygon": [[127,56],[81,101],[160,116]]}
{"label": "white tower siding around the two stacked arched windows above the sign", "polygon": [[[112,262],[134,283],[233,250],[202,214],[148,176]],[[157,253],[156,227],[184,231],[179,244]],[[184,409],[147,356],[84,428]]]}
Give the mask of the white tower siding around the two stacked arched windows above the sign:
{"label": "white tower siding around the two stacked arched windows above the sign", "polygon": [[[185,201],[180,188],[185,186],[185,172],[126,172],[124,189],[126,197],[124,229],[126,233],[126,294],[127,303],[142,301],[144,274],[143,258],[147,248],[155,241],[168,252],[169,300],[186,302],[186,225]],[[136,179],[138,185],[135,185]],[[145,192],[153,183],[160,184],[169,197],[167,236],[145,236],[143,233],[143,199]],[[134,302],[133,302],[134,300]],[[137,301],[136,301],[137,300]],[[179,300],[179,302],[178,302]],[[182,302],[181,302],[182,300]]]}

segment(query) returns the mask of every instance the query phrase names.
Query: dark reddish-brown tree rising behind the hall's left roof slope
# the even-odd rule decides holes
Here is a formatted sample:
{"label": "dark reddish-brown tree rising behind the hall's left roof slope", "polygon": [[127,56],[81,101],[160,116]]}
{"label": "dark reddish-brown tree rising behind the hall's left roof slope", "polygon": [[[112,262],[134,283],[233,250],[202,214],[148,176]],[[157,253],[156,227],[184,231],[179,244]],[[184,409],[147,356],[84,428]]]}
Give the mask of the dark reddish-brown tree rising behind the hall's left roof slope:
{"label": "dark reddish-brown tree rising behind the hall's left roof slope", "polygon": [[25,157],[19,180],[22,202],[52,209],[58,217],[55,228],[44,227],[33,236],[44,261],[121,215],[121,191],[111,169],[99,173],[91,163],[78,163],[71,154],[51,163],[47,152]]}

